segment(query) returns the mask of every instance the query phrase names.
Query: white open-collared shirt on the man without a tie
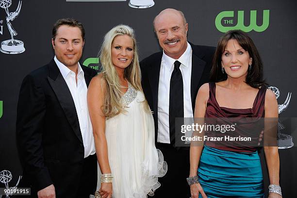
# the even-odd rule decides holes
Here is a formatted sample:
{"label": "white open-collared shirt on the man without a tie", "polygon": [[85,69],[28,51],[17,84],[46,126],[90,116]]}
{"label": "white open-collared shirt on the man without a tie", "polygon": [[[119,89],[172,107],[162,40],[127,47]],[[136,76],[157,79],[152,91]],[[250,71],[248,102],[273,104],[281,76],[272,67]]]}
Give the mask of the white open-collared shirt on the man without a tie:
{"label": "white open-collared shirt on the man without a tie", "polygon": [[75,73],[68,67],[63,65],[56,56],[54,61],[60,69],[60,72],[65,79],[67,86],[70,90],[76,113],[78,116],[80,129],[82,132],[82,141],[84,147],[84,158],[95,153],[95,143],[93,137],[93,128],[89,116],[87,105],[87,86],[84,80],[84,73],[80,63],[78,63],[77,83],[75,80]]}

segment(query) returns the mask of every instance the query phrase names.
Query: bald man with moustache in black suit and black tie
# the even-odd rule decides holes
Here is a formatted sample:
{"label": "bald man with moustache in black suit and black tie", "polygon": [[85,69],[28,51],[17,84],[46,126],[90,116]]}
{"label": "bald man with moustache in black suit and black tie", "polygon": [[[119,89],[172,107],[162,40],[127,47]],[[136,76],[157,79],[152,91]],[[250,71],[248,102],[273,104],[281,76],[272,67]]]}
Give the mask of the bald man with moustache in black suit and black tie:
{"label": "bald man with moustache in black suit and black tie", "polygon": [[142,88],[153,111],[156,147],[168,164],[160,191],[168,198],[189,198],[189,147],[175,145],[175,118],[193,117],[198,89],[209,82],[215,48],[187,42],[188,24],[181,11],[165,9],[153,24],[163,51],[148,56],[140,66]]}

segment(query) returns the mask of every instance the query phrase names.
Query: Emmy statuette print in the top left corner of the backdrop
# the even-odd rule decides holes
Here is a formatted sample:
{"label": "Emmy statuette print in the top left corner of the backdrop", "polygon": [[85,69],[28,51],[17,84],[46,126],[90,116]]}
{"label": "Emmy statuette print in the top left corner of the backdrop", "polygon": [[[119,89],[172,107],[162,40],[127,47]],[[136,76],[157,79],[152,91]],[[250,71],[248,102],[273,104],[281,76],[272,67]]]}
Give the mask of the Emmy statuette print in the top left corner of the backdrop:
{"label": "Emmy statuette print in the top left corner of the backdrop", "polygon": [[0,7],[3,8],[7,14],[6,23],[8,30],[11,35],[11,39],[2,41],[0,51],[7,54],[18,54],[25,51],[24,42],[14,39],[14,36],[17,35],[17,32],[13,28],[11,21],[13,21],[20,12],[22,7],[22,1],[18,1],[18,6],[15,12],[9,12],[8,8],[11,6],[12,0],[0,0]]}

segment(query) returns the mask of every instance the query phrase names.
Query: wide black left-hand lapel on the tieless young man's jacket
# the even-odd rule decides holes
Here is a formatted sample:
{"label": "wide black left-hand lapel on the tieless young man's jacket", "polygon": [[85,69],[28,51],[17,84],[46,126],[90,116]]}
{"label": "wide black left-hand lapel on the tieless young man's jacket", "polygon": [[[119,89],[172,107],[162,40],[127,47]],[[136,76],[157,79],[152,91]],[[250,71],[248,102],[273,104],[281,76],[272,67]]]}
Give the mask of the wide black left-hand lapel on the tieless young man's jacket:
{"label": "wide black left-hand lapel on the tieless young man's jacket", "polygon": [[49,63],[48,81],[59,100],[71,128],[82,142],[82,132],[72,95],[54,60]]}

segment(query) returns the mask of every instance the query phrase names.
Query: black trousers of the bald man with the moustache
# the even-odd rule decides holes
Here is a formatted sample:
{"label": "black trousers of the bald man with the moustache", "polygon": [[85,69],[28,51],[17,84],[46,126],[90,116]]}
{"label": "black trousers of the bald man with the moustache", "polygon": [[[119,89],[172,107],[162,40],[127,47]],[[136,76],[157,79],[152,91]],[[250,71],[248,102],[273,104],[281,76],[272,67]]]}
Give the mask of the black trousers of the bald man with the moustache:
{"label": "black trousers of the bald man with the moustache", "polygon": [[168,170],[159,178],[161,186],[155,191],[155,198],[190,198],[190,187],[186,181],[190,173],[189,147],[174,148],[170,144],[156,143],[164,155]]}

